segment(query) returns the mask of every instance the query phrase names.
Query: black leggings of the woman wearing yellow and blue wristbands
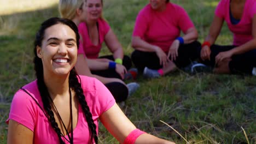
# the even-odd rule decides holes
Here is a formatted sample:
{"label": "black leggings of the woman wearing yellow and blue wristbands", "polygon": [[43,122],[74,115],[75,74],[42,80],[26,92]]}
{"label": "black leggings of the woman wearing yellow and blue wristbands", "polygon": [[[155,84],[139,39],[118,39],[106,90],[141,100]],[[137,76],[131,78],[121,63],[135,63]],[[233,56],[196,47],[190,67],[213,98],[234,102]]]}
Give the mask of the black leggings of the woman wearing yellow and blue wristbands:
{"label": "black leggings of the woman wearing yellow and blue wristbands", "polygon": [[[107,58],[107,59],[110,59],[110,60],[114,61],[113,55],[102,56],[102,57],[99,57],[99,58]],[[131,63],[131,58],[129,56],[126,56],[126,55],[124,56],[123,65],[127,70],[129,70],[131,68],[132,63]],[[115,69],[91,70],[91,73],[94,74],[94,75],[99,75],[99,76],[103,76],[103,77],[121,79],[121,76],[115,71]]]}

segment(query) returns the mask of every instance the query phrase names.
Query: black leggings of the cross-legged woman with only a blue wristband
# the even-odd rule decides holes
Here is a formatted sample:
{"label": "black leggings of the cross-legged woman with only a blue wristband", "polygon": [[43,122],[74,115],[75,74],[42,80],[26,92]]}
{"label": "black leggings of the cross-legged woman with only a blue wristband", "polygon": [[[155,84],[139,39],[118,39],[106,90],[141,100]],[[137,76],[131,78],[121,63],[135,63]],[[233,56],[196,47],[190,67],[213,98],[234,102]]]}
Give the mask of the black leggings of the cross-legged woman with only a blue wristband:
{"label": "black leggings of the cross-legged woman with only a blue wristband", "polygon": [[[178,49],[178,57],[174,63],[178,68],[183,68],[200,57],[201,44],[194,41],[190,44],[180,45]],[[170,57],[169,57],[170,58]],[[132,62],[135,67],[142,72],[145,67],[150,69],[160,69],[160,61],[155,52],[143,52],[135,50],[131,55]],[[171,59],[171,58],[170,58]]]}

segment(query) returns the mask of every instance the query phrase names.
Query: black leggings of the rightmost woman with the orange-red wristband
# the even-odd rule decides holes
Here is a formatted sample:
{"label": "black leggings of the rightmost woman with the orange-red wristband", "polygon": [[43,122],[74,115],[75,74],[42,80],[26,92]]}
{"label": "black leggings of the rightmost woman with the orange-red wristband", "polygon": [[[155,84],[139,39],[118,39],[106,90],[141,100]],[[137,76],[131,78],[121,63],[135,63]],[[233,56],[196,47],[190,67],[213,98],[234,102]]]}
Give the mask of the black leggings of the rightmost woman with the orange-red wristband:
{"label": "black leggings of the rightmost woman with the orange-red wristband", "polygon": [[[215,57],[220,52],[229,51],[234,49],[236,46],[234,45],[212,45],[211,46],[211,55],[210,61],[202,61],[203,64],[210,65],[212,67],[215,66]],[[240,55],[234,55],[231,57],[231,61],[229,62],[229,69],[231,73],[246,73],[252,74],[253,67],[256,67],[256,50],[251,50],[246,53],[242,53]]]}

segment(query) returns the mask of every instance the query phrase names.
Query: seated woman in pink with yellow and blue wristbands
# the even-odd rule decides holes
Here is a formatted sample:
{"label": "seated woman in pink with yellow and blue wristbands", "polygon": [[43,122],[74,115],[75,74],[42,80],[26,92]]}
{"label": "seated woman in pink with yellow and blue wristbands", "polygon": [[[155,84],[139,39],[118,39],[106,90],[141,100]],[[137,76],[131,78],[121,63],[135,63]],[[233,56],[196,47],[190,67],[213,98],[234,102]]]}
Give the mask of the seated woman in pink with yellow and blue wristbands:
{"label": "seated woman in pink with yellow and blue wristbands", "polygon": [[[125,79],[127,70],[131,68],[131,59],[124,56],[123,47],[102,17],[102,0],[85,0],[85,4],[85,21],[78,27],[84,43],[78,54],[88,57],[92,74]],[[98,57],[103,42],[113,55]]]}

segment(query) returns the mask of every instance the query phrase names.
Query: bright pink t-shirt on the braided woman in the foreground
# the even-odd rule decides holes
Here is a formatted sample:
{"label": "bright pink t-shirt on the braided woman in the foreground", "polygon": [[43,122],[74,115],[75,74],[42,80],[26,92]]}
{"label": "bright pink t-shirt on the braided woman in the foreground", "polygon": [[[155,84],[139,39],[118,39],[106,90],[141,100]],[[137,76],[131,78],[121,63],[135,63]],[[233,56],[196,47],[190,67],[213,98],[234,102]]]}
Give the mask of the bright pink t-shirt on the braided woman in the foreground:
{"label": "bright pink t-shirt on the braided woman in the foreground", "polygon": [[[115,99],[108,89],[97,79],[82,75],[80,75],[80,78],[82,80],[85,100],[90,107],[92,119],[94,119],[94,123],[97,127],[96,130],[98,132],[98,117],[115,104]],[[43,107],[43,102],[37,87],[37,80],[29,83],[23,88],[36,98],[39,105]],[[13,101],[11,102],[7,123],[9,122],[9,119],[13,119],[32,130],[34,133],[33,143],[60,143],[56,132],[51,127],[50,122],[43,111],[30,95],[21,89],[16,92]],[[74,143],[88,143],[90,141],[88,123],[86,122],[80,104],[78,109],[78,122],[77,126],[74,128],[73,136]],[[68,139],[67,135],[65,137]],[[63,139],[63,141],[68,143],[65,139]]]}

